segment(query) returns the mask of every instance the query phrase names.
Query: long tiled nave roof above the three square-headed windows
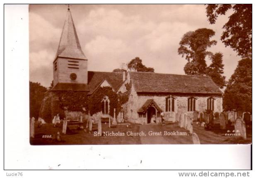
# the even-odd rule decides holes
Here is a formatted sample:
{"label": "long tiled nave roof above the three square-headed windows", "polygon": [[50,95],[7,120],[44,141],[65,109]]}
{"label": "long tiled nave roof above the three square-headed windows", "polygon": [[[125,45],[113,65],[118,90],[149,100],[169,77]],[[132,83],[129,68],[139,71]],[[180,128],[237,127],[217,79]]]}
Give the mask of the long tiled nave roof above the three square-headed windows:
{"label": "long tiled nave roof above the three square-headed windows", "polygon": [[138,93],[222,94],[209,76],[129,72]]}

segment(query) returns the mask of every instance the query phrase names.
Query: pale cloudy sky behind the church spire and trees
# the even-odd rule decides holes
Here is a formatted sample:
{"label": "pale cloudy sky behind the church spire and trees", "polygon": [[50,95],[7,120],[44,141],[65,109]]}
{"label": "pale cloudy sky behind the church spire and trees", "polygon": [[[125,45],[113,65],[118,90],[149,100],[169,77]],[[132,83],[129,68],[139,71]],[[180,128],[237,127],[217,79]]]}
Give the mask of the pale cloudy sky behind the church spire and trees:
{"label": "pale cloudy sky behind the church spire and trees", "polygon": [[[30,81],[49,86],[67,5],[29,6]],[[229,14],[210,25],[204,5],[70,5],[89,71],[112,71],[135,57],[155,72],[184,74],[186,59],[178,55],[184,33],[211,28],[222,52],[224,75],[233,74],[240,57],[220,41]],[[207,60],[209,64],[210,61]]]}

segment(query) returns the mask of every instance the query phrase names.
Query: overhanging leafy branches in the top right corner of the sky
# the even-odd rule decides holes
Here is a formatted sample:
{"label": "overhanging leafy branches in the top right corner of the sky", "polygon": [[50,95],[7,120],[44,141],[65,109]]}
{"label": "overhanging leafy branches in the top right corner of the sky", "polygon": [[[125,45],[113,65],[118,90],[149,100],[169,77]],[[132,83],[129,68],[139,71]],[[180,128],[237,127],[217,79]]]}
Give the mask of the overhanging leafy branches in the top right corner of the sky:
{"label": "overhanging leafy branches in the top right corner of the sky", "polygon": [[206,14],[210,24],[215,24],[219,15],[225,15],[232,9],[233,13],[223,26],[220,39],[230,46],[238,55],[246,55],[252,49],[252,5],[251,4],[210,4],[206,6]]}

